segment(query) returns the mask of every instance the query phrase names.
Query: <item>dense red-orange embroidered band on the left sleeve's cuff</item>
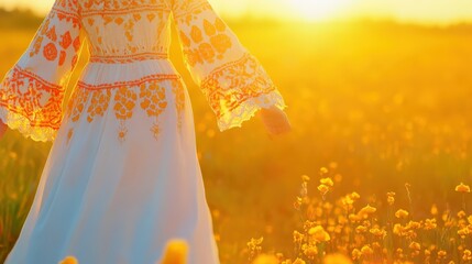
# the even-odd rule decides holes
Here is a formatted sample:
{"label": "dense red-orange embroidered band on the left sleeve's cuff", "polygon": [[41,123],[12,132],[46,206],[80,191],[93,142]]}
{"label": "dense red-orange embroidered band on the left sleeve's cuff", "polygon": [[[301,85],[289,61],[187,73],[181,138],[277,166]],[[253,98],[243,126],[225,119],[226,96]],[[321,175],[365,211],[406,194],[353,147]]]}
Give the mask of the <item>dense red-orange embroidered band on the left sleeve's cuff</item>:
{"label": "dense red-orange embroidered band on the left sleeve's cuff", "polygon": [[0,86],[0,106],[21,114],[30,127],[57,130],[62,120],[63,87],[18,65]]}

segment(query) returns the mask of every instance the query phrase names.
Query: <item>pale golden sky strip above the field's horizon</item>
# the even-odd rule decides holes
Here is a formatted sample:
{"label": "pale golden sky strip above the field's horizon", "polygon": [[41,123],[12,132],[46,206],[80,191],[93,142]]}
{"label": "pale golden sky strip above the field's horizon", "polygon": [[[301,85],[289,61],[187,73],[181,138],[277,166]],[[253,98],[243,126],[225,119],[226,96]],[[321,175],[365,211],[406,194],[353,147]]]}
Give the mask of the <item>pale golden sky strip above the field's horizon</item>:
{"label": "pale golden sky strip above the field's horizon", "polygon": [[[54,0],[0,0],[0,6],[29,7],[44,14]],[[472,21],[472,0],[209,0],[221,15],[275,16],[323,21],[352,16],[448,24]]]}

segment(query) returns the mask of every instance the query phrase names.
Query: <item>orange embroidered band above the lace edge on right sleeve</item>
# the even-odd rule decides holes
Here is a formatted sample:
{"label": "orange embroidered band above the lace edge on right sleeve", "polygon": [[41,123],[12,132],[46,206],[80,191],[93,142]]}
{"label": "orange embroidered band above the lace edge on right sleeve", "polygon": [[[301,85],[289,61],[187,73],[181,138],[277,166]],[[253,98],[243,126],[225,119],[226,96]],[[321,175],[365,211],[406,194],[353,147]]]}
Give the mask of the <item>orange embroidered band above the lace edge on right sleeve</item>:
{"label": "orange embroidered band above the lace edge on right sleeve", "polygon": [[221,118],[245,100],[276,88],[257,59],[246,53],[211,72],[201,81],[201,89],[216,116]]}

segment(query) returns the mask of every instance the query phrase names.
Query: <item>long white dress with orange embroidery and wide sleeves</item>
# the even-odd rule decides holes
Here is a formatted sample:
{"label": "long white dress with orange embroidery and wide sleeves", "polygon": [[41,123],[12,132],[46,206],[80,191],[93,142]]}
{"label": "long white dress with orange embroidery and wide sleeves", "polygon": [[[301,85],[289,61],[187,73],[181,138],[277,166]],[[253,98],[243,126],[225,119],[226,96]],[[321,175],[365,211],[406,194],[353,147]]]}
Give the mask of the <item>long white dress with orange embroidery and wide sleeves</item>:
{"label": "long white dress with orange embroidery and wide sleeves", "polygon": [[56,0],[0,82],[0,119],[54,141],[7,264],[152,264],[174,238],[187,240],[189,263],[219,263],[190,99],[167,56],[173,23],[221,131],[286,107],[207,0]]}

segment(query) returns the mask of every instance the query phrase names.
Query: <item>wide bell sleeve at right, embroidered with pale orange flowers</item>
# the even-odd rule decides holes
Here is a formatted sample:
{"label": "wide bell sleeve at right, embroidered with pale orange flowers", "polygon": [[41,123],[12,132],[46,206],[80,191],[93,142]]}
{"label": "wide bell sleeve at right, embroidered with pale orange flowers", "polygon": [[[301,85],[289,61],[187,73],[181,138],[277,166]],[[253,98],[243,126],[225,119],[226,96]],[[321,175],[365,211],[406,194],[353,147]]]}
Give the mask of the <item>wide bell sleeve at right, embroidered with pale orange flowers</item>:
{"label": "wide bell sleeve at right, embroidered with pale orange flowers", "polygon": [[220,131],[242,127],[261,108],[287,106],[261,63],[208,0],[169,0],[184,62]]}

